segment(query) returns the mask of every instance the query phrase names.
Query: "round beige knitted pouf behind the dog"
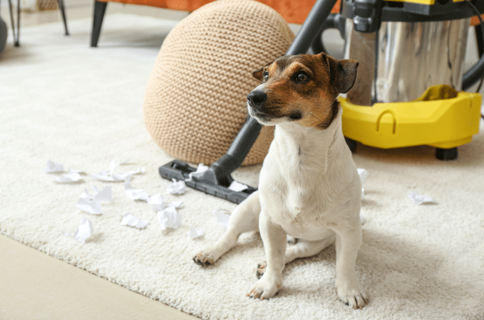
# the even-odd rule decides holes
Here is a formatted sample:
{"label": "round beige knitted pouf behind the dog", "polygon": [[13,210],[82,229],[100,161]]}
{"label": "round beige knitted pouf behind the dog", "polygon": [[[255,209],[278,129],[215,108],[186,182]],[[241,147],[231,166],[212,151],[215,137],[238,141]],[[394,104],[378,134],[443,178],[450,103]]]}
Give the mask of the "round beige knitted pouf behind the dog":
{"label": "round beige knitted pouf behind the dog", "polygon": [[[148,132],[168,154],[193,163],[220,158],[246,121],[252,71],[279,58],[294,34],[265,4],[217,0],[192,12],[163,41],[145,92]],[[244,163],[259,164],[273,139],[264,127]]]}

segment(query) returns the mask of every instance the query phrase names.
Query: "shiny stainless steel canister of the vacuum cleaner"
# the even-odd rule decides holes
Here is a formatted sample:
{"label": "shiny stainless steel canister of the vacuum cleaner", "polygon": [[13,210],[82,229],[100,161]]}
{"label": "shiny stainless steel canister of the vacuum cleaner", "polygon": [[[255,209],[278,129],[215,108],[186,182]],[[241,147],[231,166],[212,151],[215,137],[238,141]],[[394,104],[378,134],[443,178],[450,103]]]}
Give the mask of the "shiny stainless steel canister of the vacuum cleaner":
{"label": "shiny stainless steel canister of the vacuum cleaner", "polygon": [[356,105],[407,102],[432,85],[461,90],[470,18],[382,22],[375,33],[354,31],[346,19],[344,57],[359,62],[346,97]]}

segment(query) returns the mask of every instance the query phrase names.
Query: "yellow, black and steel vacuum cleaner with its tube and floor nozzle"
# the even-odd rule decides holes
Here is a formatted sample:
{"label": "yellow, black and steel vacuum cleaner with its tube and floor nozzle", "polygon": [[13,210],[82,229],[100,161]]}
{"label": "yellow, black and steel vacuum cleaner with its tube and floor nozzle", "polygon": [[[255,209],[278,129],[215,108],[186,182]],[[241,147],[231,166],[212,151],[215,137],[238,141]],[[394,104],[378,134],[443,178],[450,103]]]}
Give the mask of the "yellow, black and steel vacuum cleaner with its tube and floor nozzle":
{"label": "yellow, black and steel vacuum cleaner with its tube and floor nozzle", "polygon": [[[470,2],[470,4],[466,2]],[[398,139],[397,143],[393,140],[395,140],[395,137],[405,137],[405,133],[412,130],[417,132],[417,134],[414,132],[413,136],[425,135],[419,134],[418,130],[425,127],[426,123],[442,119],[441,114],[447,114],[439,122],[441,127],[453,124],[452,117],[460,117],[459,123],[455,124],[451,132],[446,134],[445,139],[441,139],[441,144],[438,142],[419,142],[418,139],[407,140],[411,140],[411,143],[415,145],[433,144],[443,150],[453,150],[454,144],[459,145],[468,142],[468,137],[455,138],[449,136],[456,134],[460,129],[459,125],[465,127],[468,122],[477,122],[478,130],[479,114],[477,114],[476,119],[475,110],[480,110],[480,95],[458,92],[456,97],[450,99],[415,103],[411,101],[417,100],[418,95],[423,93],[423,90],[418,92],[422,86],[443,84],[453,87],[455,90],[466,90],[480,78],[483,78],[484,55],[481,54],[478,63],[463,74],[462,61],[464,56],[461,53],[462,50],[465,50],[470,17],[484,12],[483,1],[344,0],[341,3],[339,14],[330,14],[334,4],[336,4],[336,0],[316,1],[286,55],[307,53],[309,48],[312,48],[314,53],[324,51],[321,33],[327,28],[339,29],[346,43],[345,57],[351,55],[351,58],[359,60],[359,75],[365,75],[361,77],[360,82],[357,78],[355,91],[351,93],[350,90],[346,97],[342,97],[340,100],[343,107],[343,132],[350,149],[352,151],[356,149],[357,141],[383,148],[406,146],[408,143],[401,143]],[[451,26],[448,25],[449,21]],[[459,21],[456,26],[453,26],[454,21]],[[427,27],[426,23],[433,23],[437,26]],[[420,73],[421,70],[417,70],[417,73],[411,73],[411,70],[408,70],[410,66],[402,64],[401,59],[408,55],[408,50],[411,50],[409,46],[414,46],[415,42],[420,46],[415,50],[425,57],[428,54],[425,50],[433,41],[446,41],[446,38],[454,38],[456,30],[458,30],[457,38],[451,43],[447,40],[447,49],[433,48],[431,50],[432,53],[438,54],[439,58],[431,57],[428,60],[422,60],[424,65],[427,61],[432,63],[425,73]],[[408,33],[410,31],[411,33]],[[484,32],[480,33],[481,36],[483,34]],[[434,38],[436,35],[441,38]],[[409,36],[413,37],[413,43]],[[405,41],[408,41],[408,43]],[[356,57],[355,55],[359,50],[364,51],[361,50],[362,48],[366,48],[365,52],[368,55]],[[482,48],[482,42],[480,48]],[[450,53],[450,49],[456,51]],[[392,55],[392,60],[388,63],[386,61],[388,57],[381,54],[382,50],[383,52],[386,50],[389,55]],[[405,61],[412,61],[412,56],[407,57]],[[361,68],[362,64],[363,68]],[[450,70],[446,70],[445,75],[441,77],[441,71],[445,68]],[[403,82],[399,80],[402,75],[398,72],[401,69],[409,72]],[[423,85],[418,82],[420,87],[413,87],[413,82],[417,82],[419,74],[423,75],[424,79],[421,81]],[[435,78],[434,75],[438,77]],[[431,80],[428,80],[428,78],[431,78]],[[407,90],[407,86],[411,86],[411,90]],[[437,91],[439,90],[437,89]],[[417,96],[415,96],[416,92],[418,92]],[[405,105],[405,103],[411,105]],[[439,103],[444,107],[435,105]],[[433,107],[429,108],[431,110],[427,110],[427,106],[432,104],[434,104]],[[451,106],[449,107],[449,105]],[[470,109],[470,111],[464,112],[467,109]],[[450,112],[446,112],[446,110],[450,110]],[[371,111],[377,114],[376,117],[372,118],[369,115]],[[458,114],[455,114],[455,112],[458,112]],[[405,114],[411,114],[411,117],[406,117]],[[401,124],[407,123],[418,124],[418,127],[401,129]],[[376,137],[371,136],[371,134],[365,135],[367,130],[370,131],[365,126],[376,131]],[[428,131],[433,132],[433,130],[429,129]],[[439,130],[443,131],[442,129]],[[233,203],[241,203],[257,188],[249,187],[239,192],[230,190],[229,186],[234,181],[231,174],[242,164],[259,132],[260,125],[256,120],[249,118],[235,137],[227,153],[215,161],[201,176],[193,176],[189,179],[190,174],[195,172],[196,169],[178,160],[170,161],[170,163],[161,166],[159,169],[160,176],[169,180],[173,178],[184,180],[187,186],[191,188],[224,198]],[[470,137],[472,137],[472,134],[475,133],[477,132],[475,132],[475,124],[473,123],[466,134],[470,134]],[[373,140],[367,137],[371,137]],[[392,138],[394,139],[392,140]],[[380,139],[386,139],[386,144],[374,143],[374,141]],[[451,143],[446,144],[446,142]],[[455,159],[456,156],[456,154],[454,156],[453,151],[444,151],[440,158]]]}

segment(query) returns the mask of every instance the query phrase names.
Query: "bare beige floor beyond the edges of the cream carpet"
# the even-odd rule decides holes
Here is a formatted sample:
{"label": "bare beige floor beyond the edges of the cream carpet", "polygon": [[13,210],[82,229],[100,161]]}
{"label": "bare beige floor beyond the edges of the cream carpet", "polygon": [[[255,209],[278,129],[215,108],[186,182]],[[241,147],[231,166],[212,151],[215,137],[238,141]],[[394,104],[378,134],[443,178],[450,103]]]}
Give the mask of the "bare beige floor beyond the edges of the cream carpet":
{"label": "bare beige floor beyond the edges of the cream carpet", "polygon": [[[65,0],[68,20],[88,18],[93,1]],[[1,16],[8,26],[7,1]],[[16,1],[14,1],[16,3]],[[106,14],[182,19],[187,13],[111,3]],[[21,13],[21,28],[62,23],[59,11]],[[9,28],[9,39],[12,41]],[[21,35],[20,35],[21,41]],[[0,235],[0,319],[197,319]]]}

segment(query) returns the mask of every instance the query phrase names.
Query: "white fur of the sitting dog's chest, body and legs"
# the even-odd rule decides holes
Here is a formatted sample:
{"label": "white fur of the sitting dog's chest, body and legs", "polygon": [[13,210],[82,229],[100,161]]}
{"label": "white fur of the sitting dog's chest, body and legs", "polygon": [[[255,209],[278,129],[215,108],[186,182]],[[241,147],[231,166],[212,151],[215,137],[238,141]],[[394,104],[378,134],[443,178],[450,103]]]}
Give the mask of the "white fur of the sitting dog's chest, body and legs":
{"label": "white fur of the sitting dog's chest, body and legs", "polygon": [[[247,295],[269,299],[281,288],[285,264],[336,243],[337,293],[346,304],[361,308],[367,303],[355,274],[361,245],[361,181],[341,131],[341,108],[323,130],[276,121],[259,190],[235,208],[222,238],[194,260],[213,263],[236,245],[240,234],[259,230],[267,267]],[[297,244],[287,247],[287,235],[299,239]]]}

